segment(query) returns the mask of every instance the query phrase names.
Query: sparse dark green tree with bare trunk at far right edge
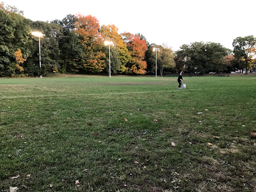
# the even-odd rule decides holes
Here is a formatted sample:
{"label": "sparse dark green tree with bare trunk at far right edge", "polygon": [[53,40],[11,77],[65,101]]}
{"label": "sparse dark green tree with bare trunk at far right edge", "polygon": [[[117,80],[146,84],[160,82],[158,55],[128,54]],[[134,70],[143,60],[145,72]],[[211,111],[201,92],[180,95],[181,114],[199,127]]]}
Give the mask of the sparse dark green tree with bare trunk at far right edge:
{"label": "sparse dark green tree with bare trunk at far right edge", "polygon": [[232,45],[234,56],[237,59],[243,59],[243,68],[245,68],[245,74],[248,74],[248,68],[252,66],[253,56],[256,55],[256,38],[253,35],[239,36],[233,40]]}

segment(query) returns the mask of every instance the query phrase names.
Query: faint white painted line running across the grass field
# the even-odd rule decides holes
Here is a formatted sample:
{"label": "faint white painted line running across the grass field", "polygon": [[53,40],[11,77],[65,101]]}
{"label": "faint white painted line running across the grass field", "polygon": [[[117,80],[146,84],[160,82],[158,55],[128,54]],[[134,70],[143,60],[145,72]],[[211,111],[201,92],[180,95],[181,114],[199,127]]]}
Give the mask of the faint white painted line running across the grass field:
{"label": "faint white painted line running across the grass field", "polygon": [[[209,89],[227,89],[231,87],[225,87],[225,88],[199,88],[199,89],[188,89],[188,90],[209,90]],[[87,93],[87,94],[57,94],[57,95],[29,95],[29,96],[6,96],[6,97],[0,97],[0,99],[3,98],[28,98],[28,97],[54,97],[54,96],[84,96],[84,95],[106,95],[106,94],[134,94],[134,93],[157,93],[157,92],[176,92],[179,90],[165,90],[165,91],[137,91],[137,92],[114,92],[114,93]]]}

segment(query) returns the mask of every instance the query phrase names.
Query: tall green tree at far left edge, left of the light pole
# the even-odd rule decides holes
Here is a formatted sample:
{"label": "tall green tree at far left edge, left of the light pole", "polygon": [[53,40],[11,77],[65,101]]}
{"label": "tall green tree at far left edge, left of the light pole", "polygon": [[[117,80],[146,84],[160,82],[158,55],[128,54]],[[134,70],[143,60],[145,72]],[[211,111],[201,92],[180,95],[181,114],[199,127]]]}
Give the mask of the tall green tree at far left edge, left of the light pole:
{"label": "tall green tree at far left edge, left of the light pole", "polygon": [[[15,51],[21,50],[24,59],[31,51],[29,49],[31,30],[27,19],[16,13],[16,9],[6,9],[0,5],[0,76],[15,74]],[[22,66],[21,66],[22,67]]]}

